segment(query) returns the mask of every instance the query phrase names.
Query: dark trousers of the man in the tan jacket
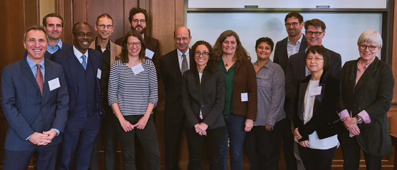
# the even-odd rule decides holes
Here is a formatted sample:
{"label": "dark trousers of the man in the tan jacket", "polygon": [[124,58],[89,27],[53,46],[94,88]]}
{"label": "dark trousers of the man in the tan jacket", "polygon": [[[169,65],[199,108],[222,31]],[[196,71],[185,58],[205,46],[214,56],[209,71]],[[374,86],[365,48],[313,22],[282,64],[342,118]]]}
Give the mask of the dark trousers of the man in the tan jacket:
{"label": "dark trousers of the man in the tan jacket", "polygon": [[105,142],[105,170],[116,170],[116,115],[113,111],[106,112],[102,122],[101,131],[95,138],[95,146],[92,150],[89,170],[100,170],[99,150],[101,149],[101,138]]}

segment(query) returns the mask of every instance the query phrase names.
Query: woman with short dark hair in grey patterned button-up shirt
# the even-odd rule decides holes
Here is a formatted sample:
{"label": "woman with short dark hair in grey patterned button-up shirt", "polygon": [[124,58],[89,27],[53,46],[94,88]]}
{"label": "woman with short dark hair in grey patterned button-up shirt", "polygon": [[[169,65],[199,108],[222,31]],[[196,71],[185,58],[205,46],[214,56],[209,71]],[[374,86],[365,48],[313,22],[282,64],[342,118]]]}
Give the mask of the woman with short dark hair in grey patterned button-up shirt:
{"label": "woman with short dark hair in grey patterned button-up shirt", "polygon": [[268,37],[257,40],[257,120],[245,138],[251,170],[278,170],[283,124],[285,124],[285,76],[281,66],[270,59],[274,43]]}

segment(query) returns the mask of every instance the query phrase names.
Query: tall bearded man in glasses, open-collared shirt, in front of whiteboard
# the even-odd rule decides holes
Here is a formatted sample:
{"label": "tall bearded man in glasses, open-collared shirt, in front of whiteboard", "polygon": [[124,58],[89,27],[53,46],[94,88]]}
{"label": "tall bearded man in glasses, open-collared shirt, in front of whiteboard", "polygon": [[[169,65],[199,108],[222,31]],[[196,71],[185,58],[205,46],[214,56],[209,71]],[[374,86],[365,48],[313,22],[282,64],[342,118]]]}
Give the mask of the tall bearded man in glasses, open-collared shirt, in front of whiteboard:
{"label": "tall bearded man in glasses, open-collared shirt, in front of whiteboard", "polygon": [[[305,35],[302,34],[302,28],[304,26],[303,16],[299,12],[288,13],[285,16],[284,22],[288,37],[277,42],[274,49],[274,63],[279,64],[284,70],[284,73],[286,73],[288,58],[298,53],[298,51],[305,51],[307,48],[307,42]],[[287,121],[284,121],[285,128],[283,133],[283,151],[287,170],[297,170],[298,167],[299,170],[305,170],[305,167],[303,166],[302,160],[299,156],[297,144],[294,142],[292,135],[292,131],[294,129],[292,124],[294,113],[292,106],[290,106],[287,101],[284,103],[284,110],[287,115]],[[295,158],[295,156],[298,158],[298,160]]]}

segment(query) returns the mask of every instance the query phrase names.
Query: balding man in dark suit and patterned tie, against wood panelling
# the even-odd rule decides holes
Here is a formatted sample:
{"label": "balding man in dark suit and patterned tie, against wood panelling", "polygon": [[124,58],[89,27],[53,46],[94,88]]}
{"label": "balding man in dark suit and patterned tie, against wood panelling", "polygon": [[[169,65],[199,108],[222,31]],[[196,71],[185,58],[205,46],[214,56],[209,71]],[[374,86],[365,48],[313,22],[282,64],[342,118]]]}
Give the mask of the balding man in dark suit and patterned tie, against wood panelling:
{"label": "balding man in dark suit and patterned tie, against wood panelling", "polygon": [[178,27],[174,31],[177,49],[166,54],[161,60],[161,74],[165,88],[164,131],[165,169],[179,170],[179,148],[185,111],[182,105],[182,73],[190,68],[190,30]]}

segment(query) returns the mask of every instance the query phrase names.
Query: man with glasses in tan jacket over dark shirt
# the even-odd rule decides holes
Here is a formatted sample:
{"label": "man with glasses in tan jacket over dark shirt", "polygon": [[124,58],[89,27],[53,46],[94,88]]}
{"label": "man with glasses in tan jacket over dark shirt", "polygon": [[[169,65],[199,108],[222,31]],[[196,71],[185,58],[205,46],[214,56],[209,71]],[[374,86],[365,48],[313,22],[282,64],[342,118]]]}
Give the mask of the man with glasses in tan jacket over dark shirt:
{"label": "man with glasses in tan jacket over dark shirt", "polygon": [[[95,49],[102,53],[102,75],[101,75],[101,100],[103,109],[105,111],[103,123],[103,134],[105,141],[105,166],[106,170],[116,169],[116,131],[114,120],[116,118],[113,114],[112,108],[108,103],[108,82],[110,75],[110,68],[115,60],[120,59],[118,56],[121,53],[121,47],[110,41],[110,36],[113,33],[113,19],[107,14],[101,14],[97,17],[95,23],[95,31],[97,37],[90,45],[91,49]],[[102,125],[101,125],[102,126]],[[90,170],[99,170],[99,150],[101,147],[101,133],[98,133],[95,139],[95,146],[91,155]]]}

